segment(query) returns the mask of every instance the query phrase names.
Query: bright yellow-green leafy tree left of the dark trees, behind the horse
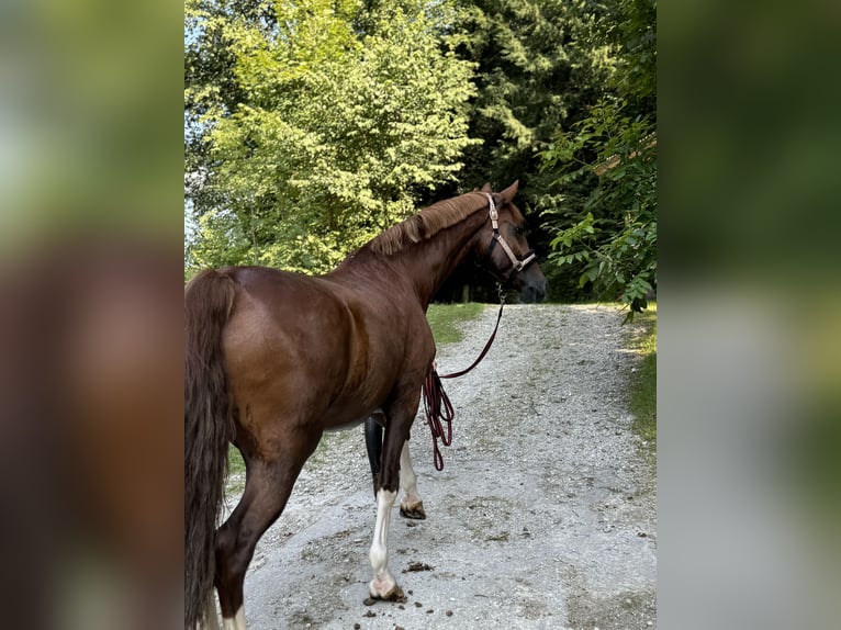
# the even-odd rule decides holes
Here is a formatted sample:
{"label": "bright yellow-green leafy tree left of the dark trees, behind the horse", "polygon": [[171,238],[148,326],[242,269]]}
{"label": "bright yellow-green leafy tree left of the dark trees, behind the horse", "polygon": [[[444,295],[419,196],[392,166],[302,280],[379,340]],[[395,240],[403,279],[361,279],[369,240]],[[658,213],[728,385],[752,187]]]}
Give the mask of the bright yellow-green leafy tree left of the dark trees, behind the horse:
{"label": "bright yellow-green leafy tree left of the dark trees, behind the horse", "polygon": [[224,52],[204,53],[186,90],[199,192],[189,256],[326,271],[455,179],[474,144],[472,67],[420,2],[256,7],[193,11],[197,52]]}

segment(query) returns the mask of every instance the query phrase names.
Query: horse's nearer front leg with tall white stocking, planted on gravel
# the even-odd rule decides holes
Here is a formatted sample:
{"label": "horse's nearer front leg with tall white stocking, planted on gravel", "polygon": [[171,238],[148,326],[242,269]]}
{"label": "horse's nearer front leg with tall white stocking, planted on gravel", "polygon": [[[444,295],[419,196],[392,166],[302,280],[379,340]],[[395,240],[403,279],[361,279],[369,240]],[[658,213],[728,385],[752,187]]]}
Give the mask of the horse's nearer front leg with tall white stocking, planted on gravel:
{"label": "horse's nearer front leg with tall white stocking, planted on gravel", "polygon": [[385,439],[382,445],[380,473],[377,475],[377,521],[371,542],[371,570],[373,578],[368,590],[374,599],[402,600],[403,590],[397,586],[389,571],[389,525],[391,510],[400,487],[400,460],[403,447],[408,439],[408,431],[420,401],[420,389],[411,386],[403,390],[403,395],[384,408]]}

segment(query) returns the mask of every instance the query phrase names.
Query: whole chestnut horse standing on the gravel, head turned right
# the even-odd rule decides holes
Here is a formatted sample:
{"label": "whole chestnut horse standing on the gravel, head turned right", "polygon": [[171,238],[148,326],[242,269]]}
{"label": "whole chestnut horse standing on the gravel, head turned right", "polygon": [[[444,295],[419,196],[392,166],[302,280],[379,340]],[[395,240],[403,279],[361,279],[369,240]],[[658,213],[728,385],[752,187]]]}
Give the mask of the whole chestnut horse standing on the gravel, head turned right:
{"label": "whole chestnut horse standing on the gravel, head turned right", "polygon": [[[389,571],[391,508],[419,503],[406,448],[420,385],[435,357],[426,308],[469,255],[537,301],[546,279],[512,199],[482,191],[400,223],[322,277],[260,267],[208,270],[184,293],[184,625],[243,630],[243,583],[255,545],[280,516],[326,429],[382,414],[370,561],[373,598],[403,596]],[[246,485],[216,530],[228,442]]]}

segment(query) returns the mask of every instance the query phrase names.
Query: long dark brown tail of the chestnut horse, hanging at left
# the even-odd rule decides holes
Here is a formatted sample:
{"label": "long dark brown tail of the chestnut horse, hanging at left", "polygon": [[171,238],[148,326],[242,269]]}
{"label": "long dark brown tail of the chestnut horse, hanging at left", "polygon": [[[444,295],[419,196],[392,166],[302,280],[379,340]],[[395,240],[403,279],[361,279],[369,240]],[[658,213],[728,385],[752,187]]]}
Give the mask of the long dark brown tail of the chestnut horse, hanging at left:
{"label": "long dark brown tail of the chestnut horse, hanging at left", "polygon": [[[222,351],[222,329],[236,285],[209,270],[184,291],[184,628],[204,621],[213,596],[215,531],[234,409]],[[212,610],[212,608],[211,608]]]}

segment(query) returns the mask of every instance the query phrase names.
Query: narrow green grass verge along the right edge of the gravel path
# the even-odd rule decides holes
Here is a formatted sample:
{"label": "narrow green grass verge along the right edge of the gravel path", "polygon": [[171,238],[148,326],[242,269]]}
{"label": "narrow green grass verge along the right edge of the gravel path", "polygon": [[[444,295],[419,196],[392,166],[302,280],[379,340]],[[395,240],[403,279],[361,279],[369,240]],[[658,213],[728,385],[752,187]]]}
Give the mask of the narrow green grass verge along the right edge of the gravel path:
{"label": "narrow green grass verge along the right edge of the gravel path", "polygon": [[657,304],[649,304],[628,327],[628,347],[641,357],[630,379],[632,427],[637,435],[653,446],[657,443]]}

